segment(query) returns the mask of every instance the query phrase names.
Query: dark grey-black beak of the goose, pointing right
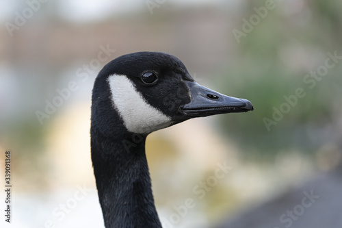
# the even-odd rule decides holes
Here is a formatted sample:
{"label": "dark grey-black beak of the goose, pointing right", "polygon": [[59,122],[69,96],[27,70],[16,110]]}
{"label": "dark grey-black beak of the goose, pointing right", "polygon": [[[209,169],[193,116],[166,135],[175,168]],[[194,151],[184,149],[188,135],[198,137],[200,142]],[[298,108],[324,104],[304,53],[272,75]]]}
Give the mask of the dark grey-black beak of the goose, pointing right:
{"label": "dark grey-black beak of the goose, pointing right", "polygon": [[252,103],[246,99],[228,97],[193,81],[185,83],[189,87],[192,100],[186,105],[182,105],[180,111],[187,116],[201,117],[253,110]]}

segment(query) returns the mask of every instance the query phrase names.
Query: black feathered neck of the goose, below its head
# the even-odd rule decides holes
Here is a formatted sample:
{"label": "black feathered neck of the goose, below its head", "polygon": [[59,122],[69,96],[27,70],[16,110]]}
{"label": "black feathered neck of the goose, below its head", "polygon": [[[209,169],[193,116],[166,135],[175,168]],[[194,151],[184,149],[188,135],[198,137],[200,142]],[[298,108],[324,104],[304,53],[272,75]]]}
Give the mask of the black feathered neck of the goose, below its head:
{"label": "black feathered neck of the goose, below its head", "polygon": [[[91,129],[92,162],[105,227],[159,227],[146,136],[109,138]],[[128,135],[127,135],[128,136]]]}

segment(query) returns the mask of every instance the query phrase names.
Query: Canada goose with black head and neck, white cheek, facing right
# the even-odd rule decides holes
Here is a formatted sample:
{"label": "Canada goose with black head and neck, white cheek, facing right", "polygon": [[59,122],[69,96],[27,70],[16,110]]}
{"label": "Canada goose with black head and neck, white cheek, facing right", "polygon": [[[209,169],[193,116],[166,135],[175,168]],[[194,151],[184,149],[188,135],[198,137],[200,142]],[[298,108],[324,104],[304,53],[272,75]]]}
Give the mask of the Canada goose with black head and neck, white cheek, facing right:
{"label": "Canada goose with black head and neck, white cheek, facing right", "polygon": [[190,118],[247,112],[252,103],[200,86],[173,55],[112,60],[92,91],[91,151],[105,227],[161,227],[145,155],[152,131]]}

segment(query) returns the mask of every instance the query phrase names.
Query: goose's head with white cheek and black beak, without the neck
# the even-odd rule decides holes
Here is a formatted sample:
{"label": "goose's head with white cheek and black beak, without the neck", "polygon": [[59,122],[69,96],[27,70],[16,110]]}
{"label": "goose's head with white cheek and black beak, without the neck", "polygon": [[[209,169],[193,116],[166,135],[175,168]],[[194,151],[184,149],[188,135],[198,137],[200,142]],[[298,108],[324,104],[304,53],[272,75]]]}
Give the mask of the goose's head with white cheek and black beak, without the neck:
{"label": "goose's head with white cheek and black beak, without the neck", "polygon": [[114,137],[147,135],[190,118],[253,110],[246,99],[196,83],[181,60],[160,52],[130,53],[109,62],[96,78],[92,102],[92,127],[101,126],[98,131]]}

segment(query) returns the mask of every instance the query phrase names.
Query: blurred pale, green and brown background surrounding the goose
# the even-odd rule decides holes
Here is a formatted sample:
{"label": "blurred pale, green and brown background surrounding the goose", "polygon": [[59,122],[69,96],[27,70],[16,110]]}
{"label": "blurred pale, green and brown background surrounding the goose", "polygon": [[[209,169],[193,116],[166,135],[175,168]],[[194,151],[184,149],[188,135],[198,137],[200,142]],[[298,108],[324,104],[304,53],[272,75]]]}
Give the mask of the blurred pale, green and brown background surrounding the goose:
{"label": "blurred pale, green and brown background surrounding the goose", "polygon": [[[329,179],[341,162],[341,10],[332,0],[1,1],[0,151],[1,173],[3,152],[12,151],[11,226],[103,227],[90,160],[92,85],[109,60],[135,51],[171,53],[199,84],[254,105],[148,136],[164,227],[230,223]],[[215,179],[225,164],[231,169]],[[318,187],[304,190],[323,201]],[[302,197],[278,203],[267,214],[272,227],[287,227],[279,218]],[[189,198],[195,206],[179,213]],[[316,208],[319,217],[328,206]]]}

